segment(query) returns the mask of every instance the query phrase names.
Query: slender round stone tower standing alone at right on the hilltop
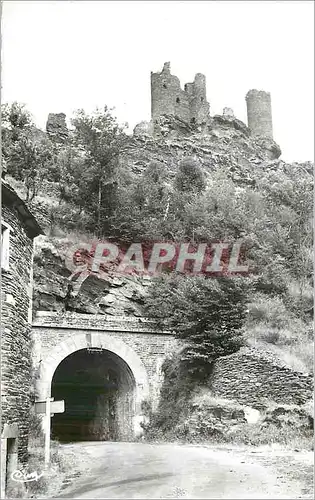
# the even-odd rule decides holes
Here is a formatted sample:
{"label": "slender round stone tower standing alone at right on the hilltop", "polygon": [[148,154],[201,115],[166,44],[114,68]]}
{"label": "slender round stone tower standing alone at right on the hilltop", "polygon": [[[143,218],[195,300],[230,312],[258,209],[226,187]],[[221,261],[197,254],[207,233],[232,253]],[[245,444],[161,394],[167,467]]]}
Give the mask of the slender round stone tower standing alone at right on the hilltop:
{"label": "slender round stone tower standing alone at right on the hilltop", "polygon": [[246,94],[247,124],[253,135],[273,138],[271,97],[263,90],[249,90]]}

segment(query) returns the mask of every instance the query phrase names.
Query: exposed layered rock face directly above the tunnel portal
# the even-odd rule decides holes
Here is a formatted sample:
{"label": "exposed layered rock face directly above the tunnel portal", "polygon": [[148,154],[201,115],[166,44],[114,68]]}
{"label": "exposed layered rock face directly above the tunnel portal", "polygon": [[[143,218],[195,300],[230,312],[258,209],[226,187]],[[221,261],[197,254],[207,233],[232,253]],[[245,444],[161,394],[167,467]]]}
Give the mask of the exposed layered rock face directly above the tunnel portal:
{"label": "exposed layered rock face directly above the tunnel portal", "polygon": [[74,290],[71,271],[65,265],[64,239],[43,238],[34,258],[34,312],[75,311],[114,316],[141,316],[149,280],[137,276],[104,279],[88,276]]}

